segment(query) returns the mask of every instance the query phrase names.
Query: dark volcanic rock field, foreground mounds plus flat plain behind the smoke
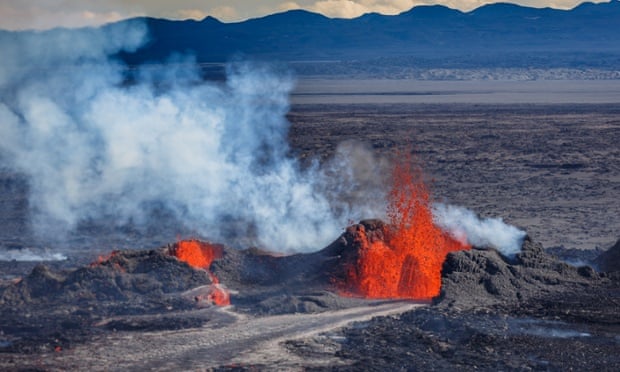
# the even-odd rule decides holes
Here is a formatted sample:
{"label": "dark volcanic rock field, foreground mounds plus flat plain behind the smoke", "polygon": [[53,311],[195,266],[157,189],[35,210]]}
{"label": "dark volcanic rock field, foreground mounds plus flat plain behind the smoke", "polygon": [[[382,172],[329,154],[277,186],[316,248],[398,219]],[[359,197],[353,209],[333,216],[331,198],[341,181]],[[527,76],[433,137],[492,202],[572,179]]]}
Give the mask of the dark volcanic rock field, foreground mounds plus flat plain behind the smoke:
{"label": "dark volcanic rock field, foreground mounds plus flat plain behind the smoke", "polygon": [[[85,226],[66,260],[0,261],[0,368],[617,370],[617,105],[325,103],[288,119],[308,166],[351,141],[413,154],[433,200],[518,226],[520,252],[457,250],[437,296],[367,299],[346,284],[361,241],[389,242],[376,216],[311,253],[188,240],[199,264],[173,224]],[[40,246],[26,181],[3,169],[0,188],[0,249]]]}

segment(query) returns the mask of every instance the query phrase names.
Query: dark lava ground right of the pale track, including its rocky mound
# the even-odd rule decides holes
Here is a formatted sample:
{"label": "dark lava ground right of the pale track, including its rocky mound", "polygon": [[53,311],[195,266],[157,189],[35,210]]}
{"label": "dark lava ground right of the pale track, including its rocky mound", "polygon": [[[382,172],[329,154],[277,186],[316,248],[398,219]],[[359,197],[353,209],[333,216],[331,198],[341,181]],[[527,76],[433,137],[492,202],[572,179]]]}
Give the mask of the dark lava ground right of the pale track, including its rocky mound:
{"label": "dark lava ground right of the pale track, including its rocky mound", "polygon": [[434,306],[342,332],[338,355],[354,364],[340,370],[616,370],[619,305],[618,272],[570,266],[529,238],[513,259],[454,252]]}

